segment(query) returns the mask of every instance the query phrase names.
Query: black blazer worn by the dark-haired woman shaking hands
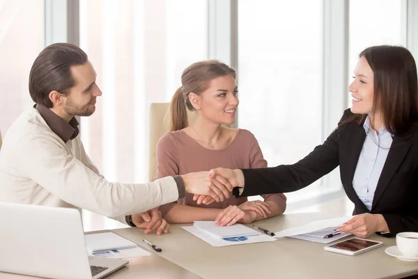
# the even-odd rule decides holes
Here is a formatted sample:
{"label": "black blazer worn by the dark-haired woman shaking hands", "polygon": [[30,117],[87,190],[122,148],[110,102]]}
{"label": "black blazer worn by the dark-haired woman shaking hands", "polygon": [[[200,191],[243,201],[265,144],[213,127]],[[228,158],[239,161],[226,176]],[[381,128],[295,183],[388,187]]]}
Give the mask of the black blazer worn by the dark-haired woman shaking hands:
{"label": "black blazer worn by the dark-haired woman shaking hands", "polygon": [[[346,110],[344,121],[352,115]],[[340,123],[341,123],[340,121]],[[369,212],[353,188],[353,176],[366,133],[362,125],[348,123],[334,132],[308,156],[294,165],[265,169],[242,169],[245,187],[240,197],[300,190],[340,167],[341,182],[355,204],[353,214]],[[373,197],[370,213],[380,213],[390,229],[418,232],[418,129],[394,136]],[[237,195],[234,189],[234,195]]]}

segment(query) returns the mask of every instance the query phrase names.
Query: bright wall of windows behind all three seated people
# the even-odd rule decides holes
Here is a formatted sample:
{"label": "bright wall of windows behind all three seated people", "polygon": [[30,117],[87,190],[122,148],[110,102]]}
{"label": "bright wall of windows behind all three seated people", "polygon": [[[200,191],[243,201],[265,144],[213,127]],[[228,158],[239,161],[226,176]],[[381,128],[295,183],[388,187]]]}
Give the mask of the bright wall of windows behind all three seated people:
{"label": "bright wall of windows behind all three seated people", "polygon": [[[103,92],[96,112],[81,119],[86,151],[109,181],[139,183],[150,179],[150,103],[169,102],[189,64],[219,59],[233,66],[235,128],[254,133],[269,166],[292,164],[350,107],[347,86],[359,52],[403,45],[418,58],[418,1],[0,0],[2,135],[33,105],[29,70],[56,42],[82,47]],[[341,199],[338,169],[286,195],[286,212]],[[123,226],[83,217],[85,230]]]}

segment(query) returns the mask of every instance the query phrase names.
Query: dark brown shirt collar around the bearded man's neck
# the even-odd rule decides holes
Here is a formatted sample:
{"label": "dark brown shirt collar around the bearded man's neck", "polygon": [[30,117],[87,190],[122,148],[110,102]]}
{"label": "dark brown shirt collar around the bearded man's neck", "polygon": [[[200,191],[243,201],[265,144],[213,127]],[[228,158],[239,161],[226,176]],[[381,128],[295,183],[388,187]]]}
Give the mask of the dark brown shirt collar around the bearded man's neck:
{"label": "dark brown shirt collar around the bearded man's neck", "polygon": [[75,137],[79,134],[79,123],[74,116],[70,122],[67,123],[60,116],[52,112],[52,110],[45,107],[45,105],[36,104],[34,107],[38,110],[45,122],[47,122],[47,125],[51,128],[52,132],[61,137],[61,140],[65,143],[67,143],[68,140],[75,139]]}

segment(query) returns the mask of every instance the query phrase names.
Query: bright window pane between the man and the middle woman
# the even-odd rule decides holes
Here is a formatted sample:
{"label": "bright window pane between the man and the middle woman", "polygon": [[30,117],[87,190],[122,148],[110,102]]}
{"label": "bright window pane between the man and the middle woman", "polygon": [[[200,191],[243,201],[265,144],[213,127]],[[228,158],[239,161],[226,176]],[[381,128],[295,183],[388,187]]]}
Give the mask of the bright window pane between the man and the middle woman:
{"label": "bright window pane between the man and the middle woman", "polygon": [[[169,102],[189,64],[208,58],[206,0],[80,0],[80,46],[103,95],[82,140],[110,181],[148,181],[148,109]],[[86,230],[114,227],[84,212]],[[92,220],[88,222],[88,220]],[[92,223],[93,222],[93,223]],[[100,223],[102,222],[102,226]]]}

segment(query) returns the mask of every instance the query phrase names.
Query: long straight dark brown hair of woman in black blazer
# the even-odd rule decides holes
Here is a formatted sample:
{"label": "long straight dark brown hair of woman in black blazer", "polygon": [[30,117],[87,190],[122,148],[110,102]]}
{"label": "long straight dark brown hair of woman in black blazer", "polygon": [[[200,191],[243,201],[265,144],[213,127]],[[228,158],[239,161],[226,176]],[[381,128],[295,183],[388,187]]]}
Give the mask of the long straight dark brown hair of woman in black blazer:
{"label": "long straight dark brown hair of woman in black blazer", "polygon": [[[402,135],[417,127],[417,66],[405,47],[378,45],[359,54],[373,70],[374,97],[371,115],[380,110],[382,123],[392,135]],[[348,121],[363,123],[366,114],[355,114]]]}

